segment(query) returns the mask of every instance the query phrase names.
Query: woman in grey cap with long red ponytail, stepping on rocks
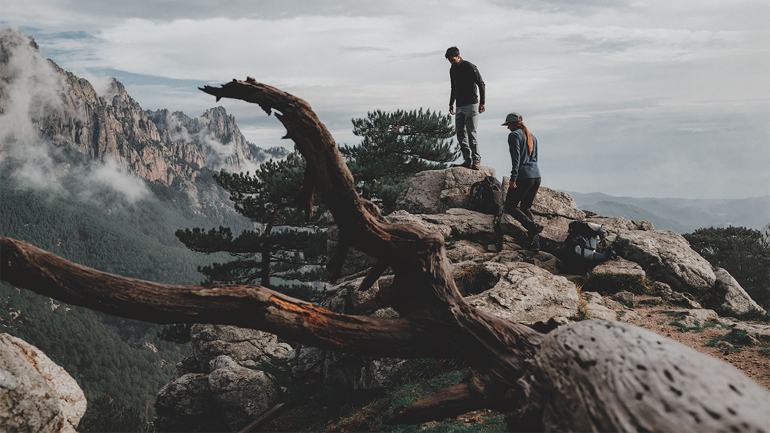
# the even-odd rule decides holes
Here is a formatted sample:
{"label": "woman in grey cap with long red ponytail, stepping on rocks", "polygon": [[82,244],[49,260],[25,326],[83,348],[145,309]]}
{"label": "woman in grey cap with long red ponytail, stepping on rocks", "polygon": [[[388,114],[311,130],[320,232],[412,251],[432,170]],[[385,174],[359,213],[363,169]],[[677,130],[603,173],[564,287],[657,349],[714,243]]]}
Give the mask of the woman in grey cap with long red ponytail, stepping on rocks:
{"label": "woman in grey cap with long red ponytail, stepping on rocks", "polygon": [[511,185],[505,197],[505,212],[527,229],[527,243],[537,244],[543,226],[534,221],[530,211],[537,189],[540,188],[540,168],[537,167],[537,138],[531,135],[524,118],[517,112],[505,117],[508,127],[508,151],[511,152]]}

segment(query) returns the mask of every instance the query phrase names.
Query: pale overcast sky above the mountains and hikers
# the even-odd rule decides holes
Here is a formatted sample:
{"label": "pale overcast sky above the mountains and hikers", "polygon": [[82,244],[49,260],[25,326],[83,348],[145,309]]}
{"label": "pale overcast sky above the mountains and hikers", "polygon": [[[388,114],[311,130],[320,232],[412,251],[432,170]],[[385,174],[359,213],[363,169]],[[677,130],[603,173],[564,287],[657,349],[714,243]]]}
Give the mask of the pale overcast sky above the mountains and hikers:
{"label": "pale overcast sky above the mountains and hikers", "polygon": [[[305,99],[339,143],[382,109],[447,112],[450,45],[487,84],[482,165],[510,173],[507,129],[537,136],[543,185],[635,197],[770,194],[770,2],[2,0],[6,28],[99,90],[203,114],[197,90],[256,78]],[[223,99],[249,142],[281,141]]]}

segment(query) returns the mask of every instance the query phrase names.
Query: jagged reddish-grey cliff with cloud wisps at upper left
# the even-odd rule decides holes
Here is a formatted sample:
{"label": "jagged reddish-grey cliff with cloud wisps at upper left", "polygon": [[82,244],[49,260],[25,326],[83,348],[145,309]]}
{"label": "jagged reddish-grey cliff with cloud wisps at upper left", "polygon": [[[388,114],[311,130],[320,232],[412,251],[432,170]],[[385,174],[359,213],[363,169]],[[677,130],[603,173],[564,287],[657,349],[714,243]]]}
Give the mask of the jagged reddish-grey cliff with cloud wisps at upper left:
{"label": "jagged reddish-grey cliff with cloud wisps at upper left", "polygon": [[113,161],[126,172],[192,195],[203,168],[240,172],[287,153],[246,142],[223,107],[197,118],[142,110],[114,78],[99,95],[87,80],[44,59],[32,36],[4,29],[0,39],[0,115],[21,121],[3,131],[0,152],[5,142],[30,139],[18,130],[28,122],[36,138]]}

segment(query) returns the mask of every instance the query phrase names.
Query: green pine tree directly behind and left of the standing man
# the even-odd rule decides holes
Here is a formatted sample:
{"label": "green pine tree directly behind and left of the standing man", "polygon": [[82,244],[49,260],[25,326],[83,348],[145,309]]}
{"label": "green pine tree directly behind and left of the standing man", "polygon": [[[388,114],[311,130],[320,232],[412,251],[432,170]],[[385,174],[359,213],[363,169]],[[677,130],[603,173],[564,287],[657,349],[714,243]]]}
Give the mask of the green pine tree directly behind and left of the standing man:
{"label": "green pine tree directly behind and left of the standing man", "polygon": [[409,179],[425,170],[446,168],[457,159],[453,146],[455,130],[450,115],[423,109],[405,112],[367,113],[353,119],[353,134],[359,145],[340,146],[364,198],[380,206],[383,214],[393,210]]}

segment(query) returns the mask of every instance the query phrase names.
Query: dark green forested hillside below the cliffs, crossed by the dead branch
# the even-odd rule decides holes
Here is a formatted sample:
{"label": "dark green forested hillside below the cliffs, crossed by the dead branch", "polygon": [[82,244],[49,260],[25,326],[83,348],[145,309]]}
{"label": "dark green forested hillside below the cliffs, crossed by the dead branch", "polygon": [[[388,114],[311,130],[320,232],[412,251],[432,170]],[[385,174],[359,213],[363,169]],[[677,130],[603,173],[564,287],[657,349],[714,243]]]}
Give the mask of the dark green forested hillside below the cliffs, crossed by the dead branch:
{"label": "dark green forested hillside below the cliffs, crossed by the dead branch", "polygon": [[[189,251],[173,233],[179,227],[215,220],[193,213],[186,194],[146,184],[153,193],[133,203],[106,189],[98,200],[83,202],[73,200],[69,192],[14,189],[18,185],[0,170],[0,235],[116,274],[199,283],[197,267],[210,264],[216,255]],[[245,218],[229,223],[249,225]],[[89,401],[106,394],[150,419],[159,388],[190,351],[163,341],[160,329],[0,284],[0,331],[23,338],[62,365]]]}

